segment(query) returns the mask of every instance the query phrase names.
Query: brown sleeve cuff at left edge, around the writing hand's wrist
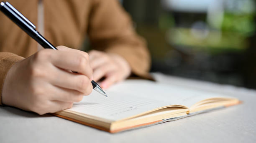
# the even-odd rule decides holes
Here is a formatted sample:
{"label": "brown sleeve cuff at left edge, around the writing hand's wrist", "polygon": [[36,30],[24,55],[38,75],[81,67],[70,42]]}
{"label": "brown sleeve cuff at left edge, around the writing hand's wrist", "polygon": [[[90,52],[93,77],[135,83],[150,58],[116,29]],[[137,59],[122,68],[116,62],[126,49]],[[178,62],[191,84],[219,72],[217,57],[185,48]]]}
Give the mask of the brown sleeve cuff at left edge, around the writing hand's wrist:
{"label": "brown sleeve cuff at left edge, around the writing hand's wrist", "polygon": [[0,52],[0,105],[3,105],[2,92],[5,77],[13,64],[21,59],[24,58],[10,52]]}

